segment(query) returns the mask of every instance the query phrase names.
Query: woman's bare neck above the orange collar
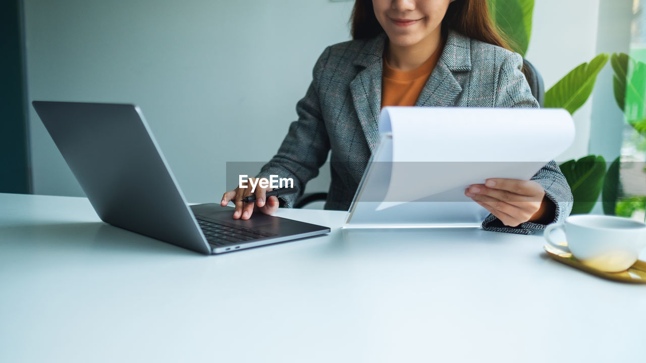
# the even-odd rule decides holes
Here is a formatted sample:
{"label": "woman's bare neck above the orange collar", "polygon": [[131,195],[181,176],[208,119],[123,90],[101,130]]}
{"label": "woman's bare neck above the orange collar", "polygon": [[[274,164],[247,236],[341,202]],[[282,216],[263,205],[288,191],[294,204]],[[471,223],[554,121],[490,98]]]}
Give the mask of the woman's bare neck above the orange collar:
{"label": "woman's bare neck above the orange collar", "polygon": [[430,58],[440,46],[442,29],[437,29],[419,43],[409,46],[395,45],[388,41],[386,60],[390,67],[407,72],[418,68]]}

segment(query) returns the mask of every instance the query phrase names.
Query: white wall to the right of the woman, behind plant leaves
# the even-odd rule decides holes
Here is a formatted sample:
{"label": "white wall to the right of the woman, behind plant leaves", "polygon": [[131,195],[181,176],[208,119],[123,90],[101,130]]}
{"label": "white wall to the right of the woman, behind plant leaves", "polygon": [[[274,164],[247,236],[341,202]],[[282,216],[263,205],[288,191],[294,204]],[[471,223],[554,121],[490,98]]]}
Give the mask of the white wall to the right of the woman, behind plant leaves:
{"label": "white wall to the right of the woman, behind plant leaves", "polygon": [[[603,52],[628,52],[632,0],[536,1],[532,40],[526,57],[536,65],[548,90],[570,70]],[[610,61],[601,70],[592,96],[574,114],[576,140],[557,161],[600,154],[612,161],[620,153],[623,116],[614,101]]]}

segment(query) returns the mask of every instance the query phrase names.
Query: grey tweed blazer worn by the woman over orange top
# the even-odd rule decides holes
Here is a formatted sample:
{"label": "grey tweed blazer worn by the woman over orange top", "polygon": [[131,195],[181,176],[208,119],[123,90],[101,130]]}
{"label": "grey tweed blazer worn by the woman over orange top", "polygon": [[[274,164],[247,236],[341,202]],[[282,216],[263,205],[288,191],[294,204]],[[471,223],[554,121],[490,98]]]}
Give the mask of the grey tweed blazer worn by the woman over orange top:
{"label": "grey tweed blazer worn by the woman over orange top", "polygon": [[[326,209],[348,210],[379,142],[382,54],[385,33],[372,39],[332,45],[321,54],[313,80],[298,101],[298,121],[289,126],[278,153],[258,176],[293,178],[298,194],[281,197],[291,207],[307,181],[330,155],[331,183]],[[417,100],[422,107],[538,107],[525,76],[522,58],[504,48],[449,30],[444,51]],[[519,121],[521,122],[521,121]],[[555,220],[572,209],[572,192],[554,161],[532,178],[556,204]],[[483,229],[530,234],[545,225],[506,227],[490,214]]]}

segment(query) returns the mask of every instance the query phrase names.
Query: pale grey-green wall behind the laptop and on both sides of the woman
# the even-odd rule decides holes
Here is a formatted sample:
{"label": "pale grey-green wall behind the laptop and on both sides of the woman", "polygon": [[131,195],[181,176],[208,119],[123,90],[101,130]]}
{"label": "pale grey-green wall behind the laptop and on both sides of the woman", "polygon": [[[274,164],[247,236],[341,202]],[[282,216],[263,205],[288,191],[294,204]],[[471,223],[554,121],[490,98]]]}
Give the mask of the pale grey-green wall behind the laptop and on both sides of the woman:
{"label": "pale grey-green wall behind the laptop and on both sides of the woman", "polygon": [[[527,57],[546,88],[596,55],[599,1],[536,1]],[[352,5],[25,0],[29,99],[140,105],[187,199],[217,201],[225,161],[262,162],[278,149],[318,55],[349,39]],[[576,125],[559,160],[587,154],[589,103]],[[33,110],[30,131],[34,192],[82,195]]]}

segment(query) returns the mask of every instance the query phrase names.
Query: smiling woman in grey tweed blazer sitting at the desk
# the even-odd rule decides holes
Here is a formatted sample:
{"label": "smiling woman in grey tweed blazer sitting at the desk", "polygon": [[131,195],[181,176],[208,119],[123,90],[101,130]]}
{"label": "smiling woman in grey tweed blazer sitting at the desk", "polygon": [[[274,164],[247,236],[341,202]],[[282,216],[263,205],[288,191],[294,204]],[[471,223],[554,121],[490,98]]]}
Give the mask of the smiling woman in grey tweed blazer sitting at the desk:
{"label": "smiling woman in grey tweed blazer sitting at the desk", "polygon": [[[326,209],[349,209],[384,106],[538,107],[522,58],[506,49],[486,0],[356,0],[352,36],[318,58],[298,121],[259,174],[293,178],[302,193],[331,150]],[[266,200],[269,190],[256,188],[256,203],[243,203],[251,191],[237,188],[225,192],[222,205],[234,200],[233,218],[271,214],[279,201]],[[290,207],[299,194],[280,197],[281,205]],[[490,179],[464,194],[491,213],[483,222],[490,231],[534,233],[572,208],[554,161],[532,180]]]}

